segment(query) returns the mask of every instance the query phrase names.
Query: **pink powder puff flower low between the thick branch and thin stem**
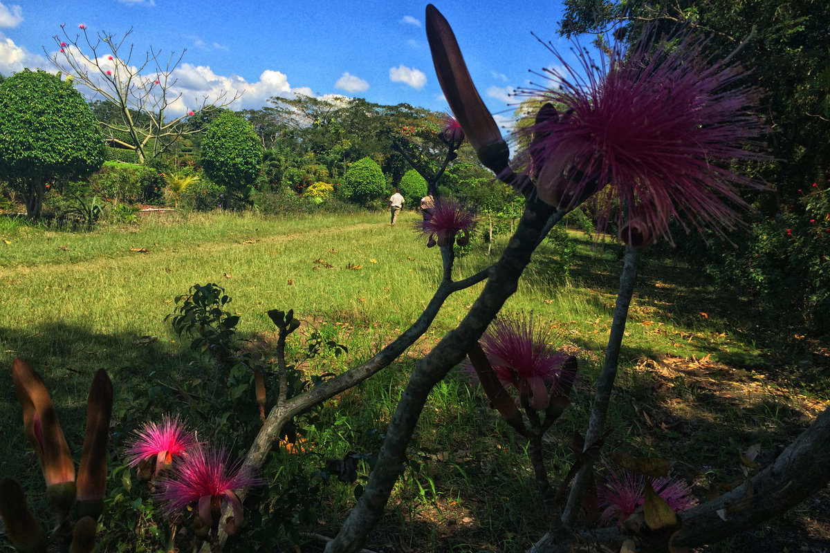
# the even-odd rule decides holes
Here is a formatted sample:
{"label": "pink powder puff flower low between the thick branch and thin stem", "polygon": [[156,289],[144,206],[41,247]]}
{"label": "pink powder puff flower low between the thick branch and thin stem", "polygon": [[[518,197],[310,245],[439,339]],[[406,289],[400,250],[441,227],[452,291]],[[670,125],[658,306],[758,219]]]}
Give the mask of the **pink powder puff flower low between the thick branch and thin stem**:
{"label": "pink powder puff flower low between the thick branch and thin stem", "polygon": [[[504,384],[519,390],[517,403],[547,409],[548,386],[558,380],[569,355],[559,352],[549,332],[534,327],[533,318],[496,318],[481,337],[481,349]],[[573,379],[575,375],[567,377]]]}

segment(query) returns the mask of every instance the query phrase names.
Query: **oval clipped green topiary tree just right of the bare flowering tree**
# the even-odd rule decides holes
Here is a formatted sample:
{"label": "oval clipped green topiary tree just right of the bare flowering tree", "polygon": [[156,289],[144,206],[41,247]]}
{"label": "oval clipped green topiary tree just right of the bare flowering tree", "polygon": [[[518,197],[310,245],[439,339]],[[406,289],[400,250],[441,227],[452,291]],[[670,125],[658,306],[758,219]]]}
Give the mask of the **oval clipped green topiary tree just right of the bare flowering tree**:
{"label": "oval clipped green topiary tree just right of the bare flowering tree", "polygon": [[261,166],[262,146],[250,123],[230,111],[213,121],[202,141],[202,167],[212,182],[225,187],[226,196],[245,198]]}

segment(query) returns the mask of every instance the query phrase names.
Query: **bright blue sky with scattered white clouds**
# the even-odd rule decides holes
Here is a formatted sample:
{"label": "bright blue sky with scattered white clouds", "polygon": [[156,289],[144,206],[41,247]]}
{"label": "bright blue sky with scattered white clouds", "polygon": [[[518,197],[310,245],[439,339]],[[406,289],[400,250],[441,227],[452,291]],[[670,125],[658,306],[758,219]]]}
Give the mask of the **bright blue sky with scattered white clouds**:
{"label": "bright blue sky with scattered white clouds", "polygon": [[[234,109],[261,108],[273,95],[346,95],[379,104],[407,102],[446,110],[432,70],[424,31],[426,2],[322,0],[317,2],[203,2],[174,0],[0,0],[0,73],[23,67],[54,70],[46,58],[56,49],[61,24],[75,36],[117,37],[144,58],[150,46],[184,54],[176,109],[203,96],[244,90]],[[437,0],[452,25],[473,80],[488,107],[509,124],[510,90],[529,84],[528,70],[554,64],[554,56],[530,35],[569,43],[556,34],[559,0],[506,2]],[[125,50],[122,49],[121,57]],[[535,79],[537,82],[539,78]]]}

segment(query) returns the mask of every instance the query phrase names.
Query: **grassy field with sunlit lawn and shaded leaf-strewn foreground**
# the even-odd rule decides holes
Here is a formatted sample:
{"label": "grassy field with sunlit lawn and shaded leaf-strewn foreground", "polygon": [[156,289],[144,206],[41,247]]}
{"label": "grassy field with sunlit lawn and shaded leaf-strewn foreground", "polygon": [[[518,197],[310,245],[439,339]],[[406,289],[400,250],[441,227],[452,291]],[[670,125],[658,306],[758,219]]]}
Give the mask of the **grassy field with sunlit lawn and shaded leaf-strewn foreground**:
{"label": "grassy field with sunlit lawn and shaded leaf-strewn foreground", "polygon": [[[97,369],[109,371],[115,383],[116,423],[134,410],[142,390],[188,376],[197,357],[164,318],[175,296],[212,282],[232,297],[227,307],[241,315],[238,330],[251,347],[267,356],[275,327],[266,311],[292,308],[305,321],[289,344],[292,359],[304,359],[304,337],[316,330],[348,346],[349,355],[322,356],[300,368],[342,371],[408,327],[432,295],[440,252],[413,233],[416,217],[404,214],[391,227],[383,214],[283,221],[166,215],[89,233],[0,219],[0,366],[11,366],[16,356],[30,361],[52,390],[68,441],[80,444],[85,396]],[[547,440],[554,477],[567,472],[569,436],[588,417],[622,269],[618,246],[594,247],[577,232],[569,240],[576,252],[569,276],[551,279],[560,272],[551,270],[559,255],[544,244],[505,305],[508,313],[533,313],[579,350],[582,381],[574,405]],[[473,240],[454,276],[485,268],[502,246],[497,241],[488,258],[486,245]],[[454,294],[398,363],[301,423],[305,445],[278,453],[280,478],[292,470],[313,473],[309,467],[355,448],[376,451],[414,361],[461,319],[480,289]],[[761,332],[740,293],[707,285],[700,268],[645,255],[626,334],[608,448],[673,459],[701,498],[740,473],[740,451],[761,444],[760,458],[769,462],[830,398],[826,347]],[[36,488],[37,460],[20,431],[8,371],[0,372],[0,390],[0,475],[18,475]],[[544,522],[536,516],[523,453],[466,376],[452,373],[433,392],[413,463],[370,546],[524,551]],[[306,531],[333,534],[354,502],[352,492],[346,484],[323,487]],[[791,537],[793,525],[810,543],[830,540],[826,514],[809,505],[752,536],[774,547]],[[745,546],[748,539],[719,551],[780,551]]]}

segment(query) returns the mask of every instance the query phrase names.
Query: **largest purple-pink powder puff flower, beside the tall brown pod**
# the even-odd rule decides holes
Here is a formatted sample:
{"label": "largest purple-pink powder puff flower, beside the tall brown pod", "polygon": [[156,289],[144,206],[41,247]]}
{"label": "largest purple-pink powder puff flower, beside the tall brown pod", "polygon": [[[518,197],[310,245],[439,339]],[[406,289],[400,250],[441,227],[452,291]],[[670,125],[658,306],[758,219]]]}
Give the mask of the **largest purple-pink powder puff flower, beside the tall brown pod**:
{"label": "largest purple-pink powder puff flower, beside the tall brown pod", "polygon": [[749,114],[756,95],[736,85],[742,70],[731,56],[713,62],[704,40],[656,43],[654,33],[646,27],[628,51],[615,47],[599,65],[580,49],[579,68],[545,45],[564,70],[544,70],[547,89],[522,90],[549,102],[525,130],[524,161],[540,198],[568,209],[610,185],[598,205],[620,206],[621,239],[634,246],[671,240],[671,216],[721,234],[734,228],[735,209],[749,209],[734,185],[763,186],[728,167],[769,159],[742,149],[767,129]]}

